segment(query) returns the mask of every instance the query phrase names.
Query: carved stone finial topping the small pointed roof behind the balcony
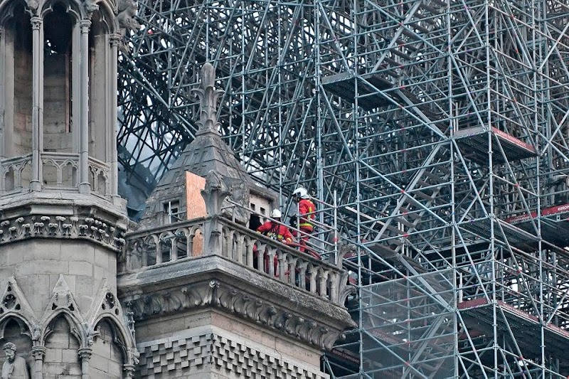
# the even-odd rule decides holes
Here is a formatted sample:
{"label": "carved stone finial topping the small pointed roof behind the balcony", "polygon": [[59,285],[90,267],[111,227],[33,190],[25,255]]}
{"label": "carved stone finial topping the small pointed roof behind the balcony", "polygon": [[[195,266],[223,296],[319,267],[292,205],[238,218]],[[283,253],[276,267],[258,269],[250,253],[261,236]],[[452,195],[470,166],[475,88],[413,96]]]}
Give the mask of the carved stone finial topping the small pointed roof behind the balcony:
{"label": "carved stone finial topping the small pointed roof behind the balcony", "polygon": [[218,134],[217,105],[223,95],[222,90],[216,90],[216,70],[211,63],[205,63],[200,73],[201,85],[192,90],[200,100],[200,119],[196,122],[199,126],[198,134],[208,132]]}

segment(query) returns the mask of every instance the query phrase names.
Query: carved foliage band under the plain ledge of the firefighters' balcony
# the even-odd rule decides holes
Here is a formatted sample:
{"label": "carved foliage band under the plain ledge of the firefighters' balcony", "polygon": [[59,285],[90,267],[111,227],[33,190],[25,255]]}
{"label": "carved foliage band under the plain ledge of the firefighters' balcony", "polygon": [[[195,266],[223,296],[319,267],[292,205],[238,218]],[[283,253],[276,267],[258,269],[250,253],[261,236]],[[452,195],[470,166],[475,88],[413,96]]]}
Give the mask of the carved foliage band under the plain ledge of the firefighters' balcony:
{"label": "carved foliage band under the plain ledge of the firefighters' balcony", "polygon": [[329,323],[308,319],[298,312],[217,280],[132,296],[125,300],[127,312],[132,312],[135,321],[213,306],[319,348],[330,349],[336,340],[343,337],[342,331]]}

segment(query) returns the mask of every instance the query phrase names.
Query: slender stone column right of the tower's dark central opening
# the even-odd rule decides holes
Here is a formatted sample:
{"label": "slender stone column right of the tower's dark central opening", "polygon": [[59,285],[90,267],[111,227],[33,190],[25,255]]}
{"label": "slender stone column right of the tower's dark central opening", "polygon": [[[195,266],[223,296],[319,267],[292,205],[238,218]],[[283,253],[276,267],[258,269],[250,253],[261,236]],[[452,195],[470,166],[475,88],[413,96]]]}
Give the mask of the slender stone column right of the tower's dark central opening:
{"label": "slender stone column right of the tower's dark central opening", "polygon": [[90,193],[89,183],[89,29],[90,20],[81,20],[81,63],[80,63],[80,149],[79,149],[79,192]]}

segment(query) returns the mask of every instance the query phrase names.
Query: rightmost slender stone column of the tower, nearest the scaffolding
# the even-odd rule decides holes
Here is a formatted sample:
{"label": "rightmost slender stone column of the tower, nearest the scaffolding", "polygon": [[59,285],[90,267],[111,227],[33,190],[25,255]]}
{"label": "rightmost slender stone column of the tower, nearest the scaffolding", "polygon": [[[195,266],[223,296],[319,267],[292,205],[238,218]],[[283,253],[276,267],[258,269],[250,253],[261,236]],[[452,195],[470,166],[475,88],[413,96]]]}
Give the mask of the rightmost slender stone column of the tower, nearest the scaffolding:
{"label": "rightmost slender stone column of the tower, nearest the scaffolding", "polygon": [[117,63],[118,50],[119,50],[120,36],[118,34],[113,34],[110,36],[111,54],[110,54],[110,70],[109,78],[107,81],[109,83],[109,99],[110,104],[108,108],[109,112],[109,132],[107,138],[109,141],[109,154],[110,154],[110,196],[113,198],[118,196],[118,186],[119,186],[119,169],[117,161]]}

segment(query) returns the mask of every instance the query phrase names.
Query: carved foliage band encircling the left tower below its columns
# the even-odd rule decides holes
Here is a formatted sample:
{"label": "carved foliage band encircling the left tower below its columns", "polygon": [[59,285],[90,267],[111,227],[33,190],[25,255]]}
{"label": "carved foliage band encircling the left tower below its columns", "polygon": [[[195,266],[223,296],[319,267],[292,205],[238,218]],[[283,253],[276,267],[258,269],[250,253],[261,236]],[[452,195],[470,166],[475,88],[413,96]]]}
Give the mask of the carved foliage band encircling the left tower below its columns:
{"label": "carved foliage band encircling the left tower below its columns", "polygon": [[124,245],[126,230],[93,217],[26,215],[0,220],[0,245],[29,238],[87,239],[115,251]]}

